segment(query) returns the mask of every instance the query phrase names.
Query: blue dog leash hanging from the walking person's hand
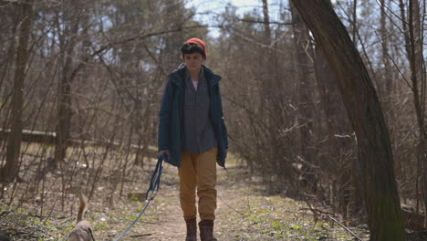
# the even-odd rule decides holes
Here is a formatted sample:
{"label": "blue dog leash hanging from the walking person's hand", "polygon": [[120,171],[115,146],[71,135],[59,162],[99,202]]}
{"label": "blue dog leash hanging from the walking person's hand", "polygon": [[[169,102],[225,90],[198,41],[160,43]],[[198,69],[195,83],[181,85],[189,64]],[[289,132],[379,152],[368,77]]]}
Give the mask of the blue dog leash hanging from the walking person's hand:
{"label": "blue dog leash hanging from the walking person's hand", "polygon": [[145,210],[147,210],[149,204],[151,201],[156,197],[157,192],[159,191],[160,187],[160,181],[161,181],[161,173],[163,172],[163,164],[165,160],[168,159],[167,153],[162,153],[159,159],[157,160],[156,169],[154,170],[154,173],[152,173],[151,181],[150,181],[150,187],[147,190],[147,194],[145,194],[146,203],[144,208],[142,209],[140,215],[138,215],[135,220],[123,231],[120,236],[116,237],[113,241],[119,241],[120,238],[125,236],[129,230],[135,225],[138,220],[140,220],[141,216],[144,214]]}

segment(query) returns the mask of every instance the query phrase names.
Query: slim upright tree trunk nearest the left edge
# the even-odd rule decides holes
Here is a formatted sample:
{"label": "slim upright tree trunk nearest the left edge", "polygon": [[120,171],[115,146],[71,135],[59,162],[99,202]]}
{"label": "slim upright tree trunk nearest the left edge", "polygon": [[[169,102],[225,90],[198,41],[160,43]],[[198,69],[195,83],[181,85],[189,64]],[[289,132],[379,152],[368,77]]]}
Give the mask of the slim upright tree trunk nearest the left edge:
{"label": "slim upright tree trunk nearest the left edge", "polygon": [[22,109],[24,102],[24,80],[26,79],[26,63],[28,60],[28,39],[30,35],[31,21],[33,17],[32,1],[28,0],[21,5],[21,22],[17,26],[17,53],[14,92],[12,95],[12,123],[11,135],[7,140],[6,162],[1,170],[1,178],[6,182],[12,182],[19,172],[19,153],[22,141]]}

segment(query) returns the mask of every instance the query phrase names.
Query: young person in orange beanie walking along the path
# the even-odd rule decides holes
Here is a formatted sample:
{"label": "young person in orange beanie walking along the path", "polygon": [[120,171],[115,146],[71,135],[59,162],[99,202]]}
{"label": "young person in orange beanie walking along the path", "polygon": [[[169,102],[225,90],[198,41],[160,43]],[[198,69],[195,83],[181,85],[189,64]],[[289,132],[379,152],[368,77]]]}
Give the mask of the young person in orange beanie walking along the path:
{"label": "young person in orange beanie walking along the path", "polygon": [[184,64],[169,75],[161,101],[159,154],[166,152],[166,162],[178,167],[185,240],[197,240],[197,189],[200,238],[216,241],[216,163],[224,167],[228,149],[221,77],[203,66],[206,45],[201,39],[187,40],[181,52]]}

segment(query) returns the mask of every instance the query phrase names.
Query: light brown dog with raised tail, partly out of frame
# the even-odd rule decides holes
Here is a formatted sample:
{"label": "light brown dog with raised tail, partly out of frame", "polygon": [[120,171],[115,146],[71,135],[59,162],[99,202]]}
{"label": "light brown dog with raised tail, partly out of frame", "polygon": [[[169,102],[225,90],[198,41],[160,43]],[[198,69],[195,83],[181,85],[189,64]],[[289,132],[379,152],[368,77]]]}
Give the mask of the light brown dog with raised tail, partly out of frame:
{"label": "light brown dog with raised tail, partly out of frame", "polygon": [[78,193],[80,205],[78,207],[77,224],[69,233],[68,241],[95,241],[92,234],[92,225],[83,219],[83,215],[88,209],[88,197],[81,192]]}

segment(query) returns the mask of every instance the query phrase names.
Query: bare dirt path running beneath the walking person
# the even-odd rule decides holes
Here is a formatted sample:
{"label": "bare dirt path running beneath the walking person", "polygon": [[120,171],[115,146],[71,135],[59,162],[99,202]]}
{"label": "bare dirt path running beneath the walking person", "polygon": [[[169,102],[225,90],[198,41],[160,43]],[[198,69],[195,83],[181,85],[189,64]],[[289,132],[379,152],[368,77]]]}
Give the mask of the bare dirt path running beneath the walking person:
{"label": "bare dirt path running beneath the walking person", "polygon": [[[234,240],[230,232],[225,231],[226,224],[221,216],[234,212],[230,206],[238,201],[241,196],[235,190],[229,189],[227,173],[218,168],[218,206],[215,223],[215,233],[220,240]],[[143,218],[124,240],[184,240],[185,225],[182,219],[182,210],[179,204],[179,190],[176,170],[165,166],[161,180],[161,190],[151,202],[146,212],[146,217],[155,221],[146,221]]]}

